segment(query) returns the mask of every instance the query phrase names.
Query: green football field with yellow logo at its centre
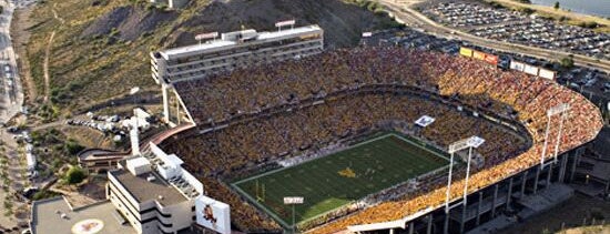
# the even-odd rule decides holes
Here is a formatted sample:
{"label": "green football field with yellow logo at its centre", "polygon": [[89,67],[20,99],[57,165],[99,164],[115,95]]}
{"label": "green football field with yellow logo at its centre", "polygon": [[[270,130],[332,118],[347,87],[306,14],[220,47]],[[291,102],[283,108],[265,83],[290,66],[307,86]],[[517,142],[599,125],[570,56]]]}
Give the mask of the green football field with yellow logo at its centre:
{"label": "green football field with yellow logo at its centre", "polygon": [[[299,223],[447,164],[448,160],[438,153],[389,133],[233,186],[289,226],[292,208],[283,204],[284,196],[305,197],[305,203],[296,206],[296,223]],[[347,167],[355,177],[339,174]]]}

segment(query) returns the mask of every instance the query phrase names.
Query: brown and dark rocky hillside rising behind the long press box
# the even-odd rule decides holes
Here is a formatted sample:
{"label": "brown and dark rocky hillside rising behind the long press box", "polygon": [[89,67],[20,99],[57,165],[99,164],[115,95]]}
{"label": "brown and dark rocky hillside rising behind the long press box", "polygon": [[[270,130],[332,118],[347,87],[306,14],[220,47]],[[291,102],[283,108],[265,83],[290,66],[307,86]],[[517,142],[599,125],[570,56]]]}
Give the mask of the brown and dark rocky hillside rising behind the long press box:
{"label": "brown and dark rocky hillside rising behind the long press box", "polygon": [[61,115],[135,85],[153,89],[151,50],[195,43],[193,35],[207,31],[274,30],[274,22],[286,19],[323,27],[327,48],[354,45],[362,31],[396,26],[362,0],[192,0],[175,11],[144,0],[44,0],[31,14],[26,55],[37,100],[48,93],[47,109]]}

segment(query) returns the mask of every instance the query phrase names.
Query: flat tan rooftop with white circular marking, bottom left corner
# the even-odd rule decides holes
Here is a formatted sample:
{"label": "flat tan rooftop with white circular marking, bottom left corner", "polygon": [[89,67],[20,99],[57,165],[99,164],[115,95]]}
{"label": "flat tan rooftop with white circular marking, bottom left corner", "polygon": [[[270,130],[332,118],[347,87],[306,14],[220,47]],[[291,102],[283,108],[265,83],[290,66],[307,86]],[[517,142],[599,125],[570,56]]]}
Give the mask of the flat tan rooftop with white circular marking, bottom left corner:
{"label": "flat tan rooftop with white circular marking, bottom left corner", "polygon": [[[31,222],[33,234],[78,233],[74,231],[94,233],[93,228],[100,227],[98,233],[135,234],[135,230],[124,222],[112,203],[108,201],[74,210],[61,196],[38,201],[32,204]],[[91,225],[92,223],[95,226]],[[87,232],[88,228],[91,228],[91,232]]]}

